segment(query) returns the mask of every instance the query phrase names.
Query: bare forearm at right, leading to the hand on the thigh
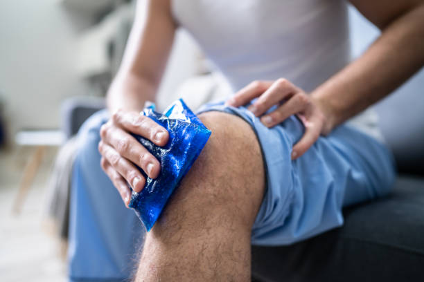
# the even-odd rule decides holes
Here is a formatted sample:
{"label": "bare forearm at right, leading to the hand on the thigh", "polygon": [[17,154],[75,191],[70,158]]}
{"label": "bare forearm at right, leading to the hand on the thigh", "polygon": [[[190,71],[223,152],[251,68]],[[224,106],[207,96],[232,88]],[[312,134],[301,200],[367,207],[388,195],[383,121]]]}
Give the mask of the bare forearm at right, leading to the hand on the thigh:
{"label": "bare forearm at right, leading to the hand on the thigh", "polygon": [[311,93],[328,131],[403,84],[424,65],[424,5],[392,21],[364,55]]}

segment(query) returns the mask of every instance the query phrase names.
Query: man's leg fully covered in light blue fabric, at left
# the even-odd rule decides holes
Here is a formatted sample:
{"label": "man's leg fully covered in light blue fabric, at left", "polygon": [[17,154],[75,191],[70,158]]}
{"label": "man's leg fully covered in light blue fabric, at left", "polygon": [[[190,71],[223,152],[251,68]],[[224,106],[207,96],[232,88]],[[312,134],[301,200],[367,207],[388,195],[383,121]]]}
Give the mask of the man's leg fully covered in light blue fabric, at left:
{"label": "man's leg fully covered in light blue fabric, at left", "polygon": [[[134,212],[100,168],[100,126],[106,111],[91,116],[78,133],[73,164],[69,227],[69,276],[72,281],[127,279],[131,258],[143,238]],[[111,280],[112,281],[112,280]]]}

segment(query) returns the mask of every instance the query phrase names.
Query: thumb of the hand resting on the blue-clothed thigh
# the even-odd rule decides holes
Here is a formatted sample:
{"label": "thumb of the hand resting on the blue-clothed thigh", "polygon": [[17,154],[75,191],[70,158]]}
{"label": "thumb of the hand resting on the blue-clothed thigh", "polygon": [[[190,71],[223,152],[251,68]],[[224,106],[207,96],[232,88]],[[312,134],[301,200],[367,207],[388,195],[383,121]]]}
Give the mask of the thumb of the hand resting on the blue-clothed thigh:
{"label": "thumb of the hand resting on the blue-clothed thigh", "polygon": [[307,120],[303,115],[299,115],[299,118],[302,120],[303,125],[305,126],[305,133],[303,134],[301,140],[297,142],[292,150],[292,160],[296,160],[303,155],[312,144],[317,141],[321,133],[322,124],[318,124],[319,121],[312,122]]}

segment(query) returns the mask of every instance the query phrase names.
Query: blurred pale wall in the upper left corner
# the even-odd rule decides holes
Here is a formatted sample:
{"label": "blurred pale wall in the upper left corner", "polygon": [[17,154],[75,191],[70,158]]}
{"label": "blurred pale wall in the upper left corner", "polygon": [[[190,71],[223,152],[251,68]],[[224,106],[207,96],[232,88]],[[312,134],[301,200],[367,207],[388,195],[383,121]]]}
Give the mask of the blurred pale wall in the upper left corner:
{"label": "blurred pale wall in the upper left corner", "polygon": [[84,92],[73,62],[78,28],[57,0],[0,1],[0,95],[10,133],[58,128],[60,102]]}

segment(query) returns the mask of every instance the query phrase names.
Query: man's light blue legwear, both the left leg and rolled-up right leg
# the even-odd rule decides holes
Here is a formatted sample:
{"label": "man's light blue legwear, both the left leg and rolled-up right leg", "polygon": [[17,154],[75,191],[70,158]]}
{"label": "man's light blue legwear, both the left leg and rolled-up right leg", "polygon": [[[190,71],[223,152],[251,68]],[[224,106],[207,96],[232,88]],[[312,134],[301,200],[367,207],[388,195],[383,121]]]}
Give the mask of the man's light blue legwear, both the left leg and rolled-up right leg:
{"label": "man's light blue legwear, both the left leg and rolled-up right leg", "polygon": [[[290,244],[340,226],[342,207],[384,196],[394,182],[391,153],[352,127],[339,126],[292,161],[292,146],[303,135],[297,118],[268,129],[245,107],[220,102],[207,104],[198,113],[205,111],[240,116],[260,142],[267,190],[252,229],[252,244]],[[100,111],[78,133],[69,229],[72,281],[127,279],[143,238],[141,222],[125,208],[100,168],[99,131],[107,120],[107,112]]]}

